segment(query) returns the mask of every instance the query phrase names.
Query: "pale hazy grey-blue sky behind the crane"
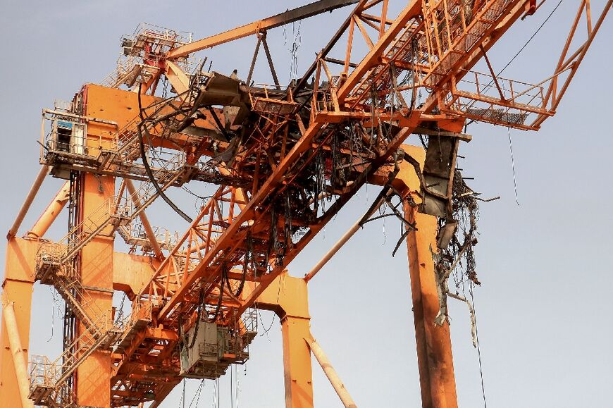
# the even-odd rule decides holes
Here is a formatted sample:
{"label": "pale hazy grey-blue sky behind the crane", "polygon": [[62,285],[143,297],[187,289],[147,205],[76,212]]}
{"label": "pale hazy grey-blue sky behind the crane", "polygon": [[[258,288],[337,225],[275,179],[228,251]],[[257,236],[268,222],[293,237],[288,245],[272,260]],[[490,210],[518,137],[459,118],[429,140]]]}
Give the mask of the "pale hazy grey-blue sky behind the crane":
{"label": "pale hazy grey-blue sky behind the crane", "polygon": [[[201,38],[305,3],[1,0],[5,51],[0,65],[4,80],[0,230],[8,230],[13,223],[39,171],[36,140],[41,109],[52,107],[54,99],[70,100],[85,82],[101,82],[115,67],[121,35],[148,22],[191,31]],[[547,78],[578,3],[564,0],[502,76],[533,83]],[[490,51],[495,70],[509,61],[556,4],[548,0],[535,16],[509,30]],[[604,0],[593,1],[593,9],[599,10],[602,4]],[[335,11],[302,23],[299,74],[347,13],[349,9]],[[282,82],[290,78],[289,48],[296,29],[297,25],[285,27],[287,44],[282,27],[268,33]],[[460,150],[466,156],[460,163],[464,175],[476,178],[473,190],[483,192],[483,197],[502,197],[481,204],[481,237],[476,247],[483,285],[476,290],[475,302],[490,408],[611,406],[613,132],[607,123],[613,113],[612,40],[609,16],[557,115],[539,132],[511,131],[520,206],[514,199],[506,128],[471,125],[468,132],[473,141]],[[254,44],[252,37],[199,56],[209,56],[213,70],[230,73],[238,68],[244,78]],[[254,78],[271,82],[263,57]],[[30,228],[62,183],[45,181],[21,233]],[[198,191],[199,187],[190,188]],[[309,271],[366,211],[377,192],[378,187],[365,187],[292,263],[290,273],[302,276]],[[184,204],[184,209],[193,214],[190,205]],[[148,214],[154,225],[185,230],[185,222],[171,212],[156,205]],[[404,250],[391,256],[399,225],[390,220],[369,223],[309,285],[312,332],[360,407],[421,405],[407,256]],[[64,216],[49,237],[57,239],[65,232]],[[459,405],[481,407],[478,359],[470,341],[466,306],[450,302]],[[58,308],[55,314],[51,309],[53,304],[49,287],[36,285],[30,353],[52,359],[61,350],[61,320]],[[262,313],[260,332],[252,344],[251,359],[233,374],[240,381],[234,407],[283,406],[278,319]],[[313,369],[316,405],[340,407],[316,361]],[[228,377],[219,382],[221,407],[230,407]],[[198,384],[187,381],[186,406]],[[179,386],[162,406],[178,407],[181,394]],[[207,381],[199,407],[211,406],[213,395],[213,382]]]}

